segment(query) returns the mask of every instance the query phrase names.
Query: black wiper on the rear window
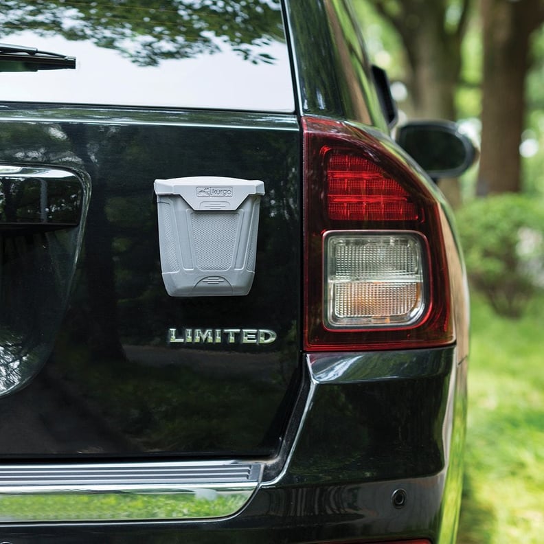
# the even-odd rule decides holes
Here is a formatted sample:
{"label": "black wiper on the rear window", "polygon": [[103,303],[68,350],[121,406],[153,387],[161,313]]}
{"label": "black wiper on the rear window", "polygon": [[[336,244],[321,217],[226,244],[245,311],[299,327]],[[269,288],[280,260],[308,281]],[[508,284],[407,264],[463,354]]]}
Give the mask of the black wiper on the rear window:
{"label": "black wiper on the rear window", "polygon": [[76,57],[36,47],[0,43],[0,71],[36,71],[75,68]]}

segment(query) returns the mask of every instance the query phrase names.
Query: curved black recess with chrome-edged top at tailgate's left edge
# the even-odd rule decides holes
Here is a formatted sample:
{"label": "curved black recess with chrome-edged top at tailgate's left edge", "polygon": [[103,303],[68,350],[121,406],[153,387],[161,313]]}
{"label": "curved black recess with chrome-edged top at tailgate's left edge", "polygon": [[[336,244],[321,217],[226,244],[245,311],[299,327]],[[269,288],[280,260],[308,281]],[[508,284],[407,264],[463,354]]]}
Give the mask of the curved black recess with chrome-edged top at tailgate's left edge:
{"label": "curved black recess with chrome-edged top at tailgate's left edge", "polygon": [[0,397],[29,383],[52,351],[89,194],[75,171],[0,165]]}

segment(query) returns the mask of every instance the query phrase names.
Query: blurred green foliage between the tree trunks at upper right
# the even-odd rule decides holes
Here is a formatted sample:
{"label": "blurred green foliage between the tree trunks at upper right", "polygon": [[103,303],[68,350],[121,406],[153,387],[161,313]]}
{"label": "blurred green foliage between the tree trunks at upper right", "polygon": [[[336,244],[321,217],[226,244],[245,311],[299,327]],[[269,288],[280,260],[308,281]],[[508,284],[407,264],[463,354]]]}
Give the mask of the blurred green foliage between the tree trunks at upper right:
{"label": "blurred green foliage between the tree trunks at upper right", "polygon": [[[504,4],[518,5],[522,10],[528,10],[532,18],[532,27],[536,27],[541,21],[540,11],[531,8],[529,2],[506,2]],[[525,4],[527,7],[525,8]],[[444,27],[442,38],[446,39],[447,34],[455,36],[456,27],[461,30],[461,69],[455,82],[455,111],[457,119],[470,120],[471,128],[475,133],[481,131],[481,123],[476,117],[481,115],[481,71],[483,65],[484,48],[482,43],[482,21],[479,12],[479,2],[466,3],[462,0],[440,0],[432,5],[427,2],[401,2],[400,0],[370,0],[368,2],[356,2],[356,14],[359,16],[361,25],[365,27],[365,39],[370,49],[370,54],[374,63],[387,69],[389,77],[396,81],[394,91],[402,89],[402,92],[395,94],[400,106],[409,116],[421,116],[424,112],[415,111],[413,102],[416,97],[413,95],[413,66],[407,54],[409,47],[405,41],[416,42],[419,34],[422,34],[423,27],[418,27],[420,32],[405,32],[401,34],[399,28],[403,25],[413,24],[415,19],[420,22],[422,17],[431,17],[431,11],[442,13],[444,23],[433,23],[433,27]],[[468,8],[468,9],[467,9]],[[392,22],[395,19],[396,24]],[[462,23],[460,25],[460,23]],[[514,25],[514,28],[516,25]],[[497,30],[494,30],[497,34]],[[458,33],[458,31],[457,31]],[[523,32],[516,34],[517,38],[523,36]],[[539,30],[532,32],[530,36],[531,55],[528,63],[528,80],[525,92],[526,111],[524,132],[521,135],[523,146],[522,155],[522,179],[521,190],[523,192],[532,192],[533,194],[544,193],[544,102],[542,99],[542,87],[544,84],[544,26]],[[413,47],[413,45],[412,45]],[[427,49],[435,49],[427,47]],[[446,70],[451,73],[451,58],[446,56]],[[525,63],[523,63],[525,64]],[[423,63],[424,69],[430,69],[427,62]],[[402,81],[404,86],[398,82]],[[439,87],[440,78],[435,77],[433,84],[427,84],[427,87],[433,93],[441,93]],[[492,87],[497,95],[497,85]],[[503,102],[499,103],[501,117],[503,112],[508,109]],[[510,115],[506,116],[510,131],[512,133],[512,112],[508,109]],[[428,113],[425,115],[429,115]],[[436,114],[433,114],[435,116]],[[497,132],[497,124],[491,123],[491,130]],[[516,129],[516,138],[519,139],[519,131]],[[501,132],[502,133],[502,132]],[[503,139],[501,138],[501,144]],[[517,156],[517,145],[513,146],[513,152]],[[510,150],[512,152],[512,150]],[[497,161],[497,157],[502,157],[502,151],[492,151],[488,153],[492,161]],[[510,155],[512,156],[512,155]],[[512,163],[512,161],[510,161]],[[500,169],[499,169],[500,171]],[[495,176],[493,177],[495,178]],[[511,176],[510,176],[511,178]],[[492,182],[492,180],[490,181]],[[467,196],[472,196],[475,192],[475,180],[464,179],[464,192]]]}

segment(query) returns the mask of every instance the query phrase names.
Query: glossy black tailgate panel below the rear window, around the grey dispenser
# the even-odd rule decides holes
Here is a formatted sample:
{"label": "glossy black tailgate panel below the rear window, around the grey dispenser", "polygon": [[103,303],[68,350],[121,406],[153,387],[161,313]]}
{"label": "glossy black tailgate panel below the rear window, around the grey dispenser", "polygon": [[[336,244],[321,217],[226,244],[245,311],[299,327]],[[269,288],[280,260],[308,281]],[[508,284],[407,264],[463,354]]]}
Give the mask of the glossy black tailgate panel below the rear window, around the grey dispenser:
{"label": "glossy black tailgate panel below the rear window, around the grey dispenser", "polygon": [[[273,455],[300,374],[295,116],[14,105],[0,124],[0,455]],[[154,181],[201,176],[264,184],[247,295],[166,292]]]}

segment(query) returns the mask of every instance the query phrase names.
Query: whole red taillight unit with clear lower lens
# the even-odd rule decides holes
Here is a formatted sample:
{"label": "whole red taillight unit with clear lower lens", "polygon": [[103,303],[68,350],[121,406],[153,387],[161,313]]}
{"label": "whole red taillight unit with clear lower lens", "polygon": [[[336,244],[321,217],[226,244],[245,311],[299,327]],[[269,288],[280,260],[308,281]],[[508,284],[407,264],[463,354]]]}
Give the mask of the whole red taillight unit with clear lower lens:
{"label": "whole red taillight unit with clear lower lens", "polygon": [[380,139],[313,117],[304,126],[305,348],[453,341],[442,209]]}

